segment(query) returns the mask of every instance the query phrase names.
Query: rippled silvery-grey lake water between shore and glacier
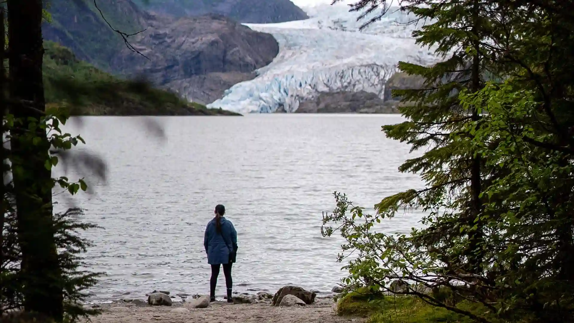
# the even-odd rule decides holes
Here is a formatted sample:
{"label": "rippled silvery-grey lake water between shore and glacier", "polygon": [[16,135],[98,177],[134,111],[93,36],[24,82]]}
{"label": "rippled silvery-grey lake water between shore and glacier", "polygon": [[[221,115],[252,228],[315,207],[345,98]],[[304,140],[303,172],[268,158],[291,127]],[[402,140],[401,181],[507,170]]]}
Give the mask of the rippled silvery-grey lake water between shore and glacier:
{"label": "rippled silvery-grey lake water between shore and glacier", "polygon": [[[336,262],[342,240],[321,236],[321,212],[343,191],[372,209],[389,194],[420,187],[397,167],[409,147],[387,139],[381,126],[397,115],[266,114],[245,117],[84,117],[65,130],[87,141],[76,151],[100,155],[107,182],[85,170],[94,194],[59,209],[83,207],[83,220],[104,229],[84,234],[96,244],[86,261],[107,272],[95,299],[153,289],[208,293],[205,225],[222,203],[238,231],[235,290],[276,291],[285,284],[330,291],[345,272]],[[146,127],[165,130],[160,139]],[[73,121],[73,120],[72,120]],[[57,168],[57,175],[64,173]],[[408,232],[420,213],[383,221],[386,232]],[[219,294],[224,293],[221,274]]]}

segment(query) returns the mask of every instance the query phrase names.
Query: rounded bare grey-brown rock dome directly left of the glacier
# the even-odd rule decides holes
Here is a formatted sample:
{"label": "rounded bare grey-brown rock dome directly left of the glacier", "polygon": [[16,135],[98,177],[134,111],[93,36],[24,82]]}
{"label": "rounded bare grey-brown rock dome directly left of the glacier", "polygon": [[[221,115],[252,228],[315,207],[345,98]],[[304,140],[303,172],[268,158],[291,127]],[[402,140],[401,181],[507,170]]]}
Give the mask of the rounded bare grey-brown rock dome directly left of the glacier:
{"label": "rounded bare grey-brown rock dome directly left of the glacier", "polygon": [[232,85],[253,79],[253,71],[279,52],[272,35],[216,14],[150,17],[146,32],[131,44],[148,59],[124,48],[111,61],[113,70],[145,76],[199,103],[213,102]]}

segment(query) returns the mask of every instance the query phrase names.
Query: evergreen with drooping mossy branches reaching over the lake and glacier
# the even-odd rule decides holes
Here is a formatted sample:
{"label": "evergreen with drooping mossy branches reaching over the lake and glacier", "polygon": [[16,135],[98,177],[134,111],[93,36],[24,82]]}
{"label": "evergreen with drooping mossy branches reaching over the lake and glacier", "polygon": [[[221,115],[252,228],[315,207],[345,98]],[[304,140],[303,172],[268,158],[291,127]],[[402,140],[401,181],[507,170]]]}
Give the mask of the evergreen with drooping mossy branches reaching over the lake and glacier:
{"label": "evergreen with drooping mossy branches reaching over the lake and glacier", "polygon": [[[409,121],[385,126],[383,130],[387,136],[412,145],[413,150],[432,147],[400,168],[400,171],[422,172],[428,188],[396,195],[378,205],[378,212],[387,216],[394,215],[397,202],[427,209],[452,209],[452,213],[437,218],[440,222],[435,223],[435,229],[439,231],[429,230],[420,238],[437,251],[450,249],[451,260],[458,259],[456,266],[466,267],[465,272],[474,274],[482,272],[480,192],[484,171],[470,140],[476,126],[480,126],[480,111],[476,106],[462,105],[457,93],[478,91],[483,86],[485,71],[492,70],[484,46],[492,24],[488,7],[488,2],[479,0],[419,1],[404,7],[421,20],[432,21],[413,36],[422,46],[435,46],[435,53],[445,60],[431,67],[398,64],[402,72],[421,76],[426,82],[422,89],[395,91],[411,103],[400,109]],[[468,128],[468,121],[474,122],[475,128]],[[461,224],[461,219],[466,223]],[[457,244],[456,248],[463,247],[455,251],[452,243]]]}

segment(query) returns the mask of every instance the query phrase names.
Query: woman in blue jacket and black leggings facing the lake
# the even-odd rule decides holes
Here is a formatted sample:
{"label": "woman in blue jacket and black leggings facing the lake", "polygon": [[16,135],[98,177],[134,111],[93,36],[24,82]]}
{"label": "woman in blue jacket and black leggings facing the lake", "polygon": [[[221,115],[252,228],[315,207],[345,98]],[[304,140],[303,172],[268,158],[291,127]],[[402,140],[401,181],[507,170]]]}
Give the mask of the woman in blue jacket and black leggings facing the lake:
{"label": "woman in blue jacket and black leggings facing the lake", "polygon": [[203,245],[207,252],[207,262],[211,265],[210,300],[215,302],[215,286],[219,276],[219,268],[223,265],[223,275],[227,287],[227,302],[232,303],[231,264],[237,256],[237,232],[231,221],[225,215],[225,206],[215,206],[215,217],[207,224]]}

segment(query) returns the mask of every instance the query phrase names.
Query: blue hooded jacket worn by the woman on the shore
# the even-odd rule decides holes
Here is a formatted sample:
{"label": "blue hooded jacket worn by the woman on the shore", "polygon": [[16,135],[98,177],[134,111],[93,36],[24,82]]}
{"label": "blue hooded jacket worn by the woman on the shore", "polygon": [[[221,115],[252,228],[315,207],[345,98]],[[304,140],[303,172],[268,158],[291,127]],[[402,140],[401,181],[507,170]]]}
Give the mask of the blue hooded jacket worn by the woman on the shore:
{"label": "blue hooded jacket worn by the woman on the shore", "polygon": [[231,221],[225,217],[219,218],[221,233],[217,232],[216,218],[213,218],[205,228],[203,246],[207,252],[209,264],[227,264],[235,262],[237,252],[237,232]]}

